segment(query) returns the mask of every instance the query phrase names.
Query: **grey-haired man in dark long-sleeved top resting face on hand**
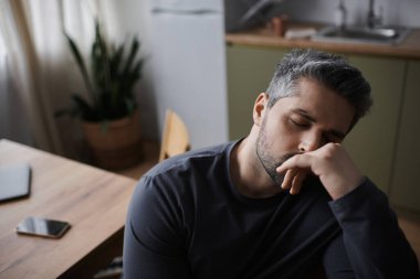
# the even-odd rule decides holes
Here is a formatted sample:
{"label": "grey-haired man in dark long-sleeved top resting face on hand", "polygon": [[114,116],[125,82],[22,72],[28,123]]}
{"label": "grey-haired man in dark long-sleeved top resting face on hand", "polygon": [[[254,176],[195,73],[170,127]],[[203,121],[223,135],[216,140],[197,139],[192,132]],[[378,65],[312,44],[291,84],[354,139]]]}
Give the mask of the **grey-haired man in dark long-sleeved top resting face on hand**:
{"label": "grey-haired man in dark long-sleeved top resting face on hand", "polygon": [[[343,58],[293,51],[239,141],[145,174],[125,229],[125,278],[418,278],[387,197],[340,142],[371,105]],[[363,142],[360,142],[363,144]]]}

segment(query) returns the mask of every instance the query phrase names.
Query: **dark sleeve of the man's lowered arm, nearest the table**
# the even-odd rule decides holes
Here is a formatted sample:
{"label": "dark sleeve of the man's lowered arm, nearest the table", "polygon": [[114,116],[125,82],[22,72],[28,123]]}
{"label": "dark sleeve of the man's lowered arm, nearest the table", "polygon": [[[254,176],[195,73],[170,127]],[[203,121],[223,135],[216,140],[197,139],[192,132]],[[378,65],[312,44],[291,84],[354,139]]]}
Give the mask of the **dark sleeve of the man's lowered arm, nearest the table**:
{"label": "dark sleeve of the man's lowered arm, nearest the table", "polygon": [[124,232],[124,278],[190,278],[178,219],[170,193],[143,178]]}

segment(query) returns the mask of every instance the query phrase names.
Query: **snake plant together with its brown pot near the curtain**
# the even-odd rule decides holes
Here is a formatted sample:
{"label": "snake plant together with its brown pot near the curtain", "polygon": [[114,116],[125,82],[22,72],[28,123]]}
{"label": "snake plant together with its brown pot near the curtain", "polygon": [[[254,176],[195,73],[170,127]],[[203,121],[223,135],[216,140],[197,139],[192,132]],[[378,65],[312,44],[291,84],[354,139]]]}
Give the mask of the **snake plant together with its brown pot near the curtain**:
{"label": "snake plant together with its brown pot near the curtain", "polygon": [[76,43],[64,34],[87,97],[73,94],[72,107],[59,115],[70,114],[82,120],[82,129],[98,167],[108,170],[132,167],[140,159],[139,114],[133,90],[143,66],[143,58],[137,57],[138,40],[135,37],[128,50],[124,44],[111,47],[96,20],[88,71]]}

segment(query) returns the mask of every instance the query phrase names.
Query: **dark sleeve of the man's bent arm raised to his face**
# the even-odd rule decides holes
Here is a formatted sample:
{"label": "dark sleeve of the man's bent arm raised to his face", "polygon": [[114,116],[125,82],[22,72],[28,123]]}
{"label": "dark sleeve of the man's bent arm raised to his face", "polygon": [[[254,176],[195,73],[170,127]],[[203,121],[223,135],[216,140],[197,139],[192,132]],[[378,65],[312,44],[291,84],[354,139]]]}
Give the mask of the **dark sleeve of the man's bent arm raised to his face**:
{"label": "dark sleeve of the man's bent arm raised to his face", "polygon": [[416,255],[387,196],[368,179],[329,206],[356,279],[420,278]]}

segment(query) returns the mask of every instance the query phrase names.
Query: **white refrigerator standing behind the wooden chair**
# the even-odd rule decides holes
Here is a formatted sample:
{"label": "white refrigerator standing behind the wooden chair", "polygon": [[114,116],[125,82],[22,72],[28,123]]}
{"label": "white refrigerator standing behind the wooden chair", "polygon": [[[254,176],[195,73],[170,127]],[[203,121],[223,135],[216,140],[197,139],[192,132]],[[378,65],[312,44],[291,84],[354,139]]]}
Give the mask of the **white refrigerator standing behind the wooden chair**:
{"label": "white refrigerator standing behind the wooden chair", "polygon": [[149,9],[159,130],[170,108],[186,122],[192,149],[227,141],[222,0],[149,0]]}

